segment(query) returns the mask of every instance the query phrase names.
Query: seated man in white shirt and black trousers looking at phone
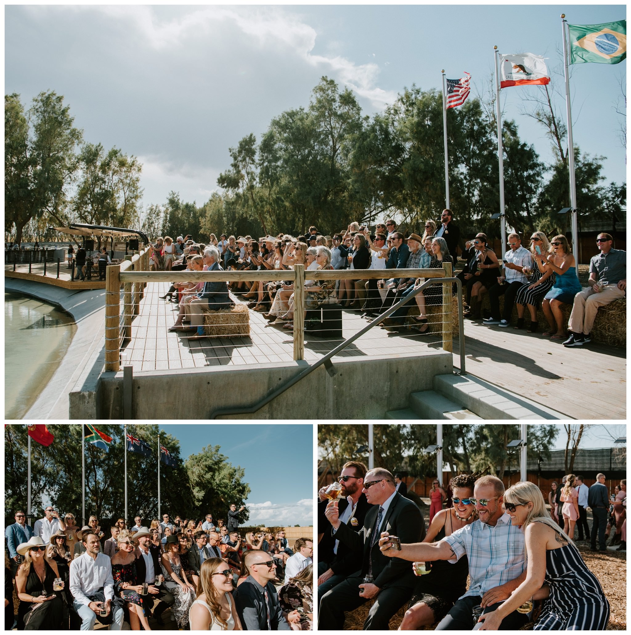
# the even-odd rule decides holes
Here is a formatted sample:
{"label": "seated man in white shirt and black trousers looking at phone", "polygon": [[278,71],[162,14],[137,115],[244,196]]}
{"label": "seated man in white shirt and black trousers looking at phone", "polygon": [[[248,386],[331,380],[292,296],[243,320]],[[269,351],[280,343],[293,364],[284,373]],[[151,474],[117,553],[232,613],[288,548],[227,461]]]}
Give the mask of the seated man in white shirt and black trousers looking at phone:
{"label": "seated man in white shirt and black trousers looking at phone", "polygon": [[[493,284],[489,289],[491,317],[483,320],[483,323],[488,326],[497,324],[503,328],[508,328],[517,291],[524,284],[528,284],[524,267],[533,268],[533,256],[522,247],[521,239],[517,234],[508,236],[508,245],[510,249],[504,255],[504,275],[498,277],[497,284]],[[501,314],[500,295],[504,296],[504,311]]]}

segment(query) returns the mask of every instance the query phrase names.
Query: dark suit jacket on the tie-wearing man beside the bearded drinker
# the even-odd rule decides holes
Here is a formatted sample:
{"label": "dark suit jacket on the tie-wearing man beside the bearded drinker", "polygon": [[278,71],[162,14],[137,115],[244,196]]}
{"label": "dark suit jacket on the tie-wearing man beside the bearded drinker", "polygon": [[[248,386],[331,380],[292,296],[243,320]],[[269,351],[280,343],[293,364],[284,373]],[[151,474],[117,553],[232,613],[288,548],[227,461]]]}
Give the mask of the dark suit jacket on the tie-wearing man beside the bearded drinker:
{"label": "dark suit jacket on the tie-wearing man beside the bearded drinker", "polygon": [[[400,558],[388,558],[379,549],[379,540],[375,540],[373,548],[370,548],[373,528],[377,519],[379,505],[372,505],[364,519],[364,526],[359,531],[352,527],[340,525],[335,537],[347,545],[352,551],[363,550],[362,575],[368,572],[369,559],[373,563],[373,578],[375,584],[384,589],[389,586],[405,586],[412,588],[416,577],[407,560]],[[404,498],[395,492],[394,498],[388,507],[385,518],[382,519],[380,531],[388,531],[392,536],[401,538],[402,543],[421,541],[421,526],[423,518],[420,509],[408,498]]]}

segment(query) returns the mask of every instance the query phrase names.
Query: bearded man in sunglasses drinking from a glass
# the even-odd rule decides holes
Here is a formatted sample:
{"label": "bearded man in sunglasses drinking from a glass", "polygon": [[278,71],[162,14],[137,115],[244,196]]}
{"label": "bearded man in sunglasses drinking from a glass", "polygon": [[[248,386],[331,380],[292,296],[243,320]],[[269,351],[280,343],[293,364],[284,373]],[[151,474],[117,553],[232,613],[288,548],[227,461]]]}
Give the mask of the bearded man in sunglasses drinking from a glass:
{"label": "bearded man in sunglasses drinking from a glass", "polygon": [[[366,476],[366,465],[357,461],[349,461],[342,467],[340,474],[340,485],[342,485],[342,496],[338,509],[340,510],[340,521],[345,525],[350,525],[355,531],[364,526],[364,518],[370,505],[366,500],[366,494],[362,492],[364,488],[364,476]],[[326,490],[325,488],[322,488]],[[323,496],[323,494],[322,494]],[[324,498],[319,503],[322,514],[328,504],[328,498]],[[320,511],[320,509],[319,509]],[[317,592],[321,598],[327,591],[330,591],[336,584],[340,584],[347,576],[358,569],[361,569],[361,551],[352,551],[349,547],[333,536],[330,526],[327,528],[321,523],[326,523],[324,519],[319,519],[319,531],[326,533],[318,545],[318,553],[322,552],[322,558],[317,564]]]}

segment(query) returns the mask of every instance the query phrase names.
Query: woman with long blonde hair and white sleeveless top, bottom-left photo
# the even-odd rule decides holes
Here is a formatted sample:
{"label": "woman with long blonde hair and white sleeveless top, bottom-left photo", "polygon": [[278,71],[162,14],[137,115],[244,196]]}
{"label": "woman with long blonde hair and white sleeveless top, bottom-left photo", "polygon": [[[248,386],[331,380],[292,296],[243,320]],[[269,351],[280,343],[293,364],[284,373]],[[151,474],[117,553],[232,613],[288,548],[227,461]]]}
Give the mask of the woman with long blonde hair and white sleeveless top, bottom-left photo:
{"label": "woman with long blonde hair and white sleeveless top, bottom-left photo", "polygon": [[232,599],[232,572],[221,558],[208,558],[199,568],[201,594],[189,609],[191,631],[242,631]]}

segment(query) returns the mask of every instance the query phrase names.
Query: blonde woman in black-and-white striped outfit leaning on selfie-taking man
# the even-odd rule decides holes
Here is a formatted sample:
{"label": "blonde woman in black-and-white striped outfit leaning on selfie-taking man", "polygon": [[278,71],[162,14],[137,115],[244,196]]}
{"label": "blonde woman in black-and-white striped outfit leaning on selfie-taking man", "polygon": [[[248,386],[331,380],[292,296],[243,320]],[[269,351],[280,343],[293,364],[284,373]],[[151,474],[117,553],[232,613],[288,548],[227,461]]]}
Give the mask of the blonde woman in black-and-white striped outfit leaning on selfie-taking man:
{"label": "blonde woman in black-and-white striped outfit leaning on selfie-taking man", "polygon": [[501,620],[533,599],[544,599],[534,631],[604,631],[609,602],[576,545],[545,509],[535,483],[517,483],[504,493],[504,507],[525,536],[526,579],[495,611],[479,618],[481,631],[496,631]]}

